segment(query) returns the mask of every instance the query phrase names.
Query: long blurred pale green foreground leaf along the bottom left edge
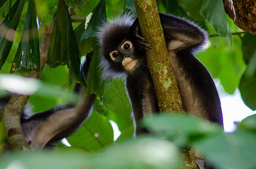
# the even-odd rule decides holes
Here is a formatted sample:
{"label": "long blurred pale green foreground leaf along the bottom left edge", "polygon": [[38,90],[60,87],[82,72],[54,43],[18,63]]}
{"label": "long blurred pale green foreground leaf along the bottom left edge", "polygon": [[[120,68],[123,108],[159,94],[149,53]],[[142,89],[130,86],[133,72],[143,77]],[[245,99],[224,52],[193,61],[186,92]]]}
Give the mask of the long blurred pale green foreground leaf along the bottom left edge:
{"label": "long blurred pale green foreground leaf along the bottom left edge", "polygon": [[170,141],[140,138],[90,155],[77,150],[69,153],[12,153],[0,159],[0,168],[174,169],[179,168],[179,157],[179,150]]}

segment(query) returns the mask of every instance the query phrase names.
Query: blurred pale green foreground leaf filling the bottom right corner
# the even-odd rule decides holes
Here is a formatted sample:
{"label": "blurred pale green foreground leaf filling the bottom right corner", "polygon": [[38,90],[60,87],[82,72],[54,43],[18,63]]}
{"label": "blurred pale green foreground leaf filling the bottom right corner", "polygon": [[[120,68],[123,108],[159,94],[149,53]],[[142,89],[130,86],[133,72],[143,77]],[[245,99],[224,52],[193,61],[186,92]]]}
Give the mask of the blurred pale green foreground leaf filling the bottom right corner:
{"label": "blurred pale green foreground leaf filling the bottom right corner", "polygon": [[205,137],[194,144],[216,168],[255,168],[256,135],[248,131],[235,131]]}

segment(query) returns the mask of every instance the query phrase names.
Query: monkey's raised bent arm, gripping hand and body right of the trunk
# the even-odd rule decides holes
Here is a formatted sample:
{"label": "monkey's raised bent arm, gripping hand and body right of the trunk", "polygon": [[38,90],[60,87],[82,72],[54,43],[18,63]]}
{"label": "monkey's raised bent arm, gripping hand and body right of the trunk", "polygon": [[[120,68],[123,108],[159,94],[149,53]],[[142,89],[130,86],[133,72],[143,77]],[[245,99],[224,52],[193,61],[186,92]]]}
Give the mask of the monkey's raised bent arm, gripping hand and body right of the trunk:
{"label": "monkey's raised bent arm, gripping hand and body right of the trunk", "polygon": [[[207,34],[196,24],[172,15],[159,14],[171,65],[186,112],[223,125],[219,95],[210,73],[192,52],[205,44]],[[132,25],[134,42],[141,41],[138,19]]]}

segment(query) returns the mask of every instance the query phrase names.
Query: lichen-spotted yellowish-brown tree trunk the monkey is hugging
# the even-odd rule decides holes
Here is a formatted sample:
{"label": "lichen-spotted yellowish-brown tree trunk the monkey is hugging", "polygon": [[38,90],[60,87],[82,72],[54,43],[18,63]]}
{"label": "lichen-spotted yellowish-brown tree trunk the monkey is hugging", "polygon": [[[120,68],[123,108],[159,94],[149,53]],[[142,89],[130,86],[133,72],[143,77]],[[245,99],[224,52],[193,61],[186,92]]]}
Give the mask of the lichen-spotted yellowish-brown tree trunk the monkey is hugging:
{"label": "lichen-spotted yellowish-brown tree trunk the monkey is hugging", "polygon": [[[155,0],[134,0],[141,33],[152,48],[147,52],[147,64],[153,79],[159,109],[162,112],[185,113],[175,75],[168,56],[163,28]],[[197,168],[193,150],[182,154],[182,168]]]}

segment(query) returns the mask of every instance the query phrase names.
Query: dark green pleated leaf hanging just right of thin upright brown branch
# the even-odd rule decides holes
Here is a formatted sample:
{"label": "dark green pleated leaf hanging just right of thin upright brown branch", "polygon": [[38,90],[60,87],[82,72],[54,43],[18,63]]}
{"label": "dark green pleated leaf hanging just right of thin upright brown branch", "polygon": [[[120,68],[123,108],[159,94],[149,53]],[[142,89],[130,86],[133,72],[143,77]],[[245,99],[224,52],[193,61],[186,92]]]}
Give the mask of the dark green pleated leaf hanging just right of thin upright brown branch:
{"label": "dark green pleated leaf hanging just right of thin upright brown branch", "polygon": [[59,65],[68,65],[70,83],[77,81],[85,85],[75,34],[64,0],[59,1],[55,13],[47,63],[52,68]]}

